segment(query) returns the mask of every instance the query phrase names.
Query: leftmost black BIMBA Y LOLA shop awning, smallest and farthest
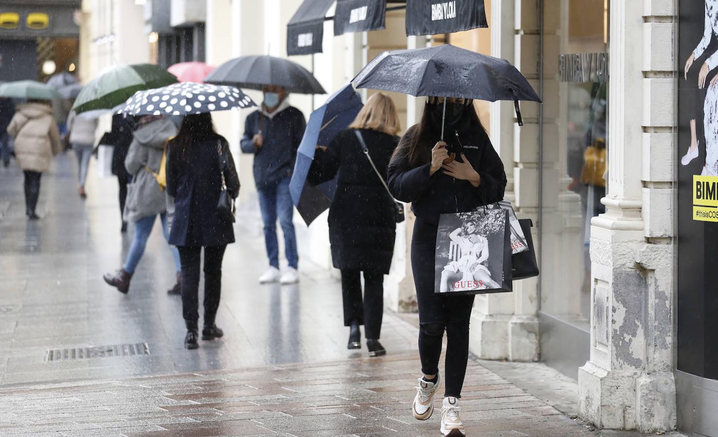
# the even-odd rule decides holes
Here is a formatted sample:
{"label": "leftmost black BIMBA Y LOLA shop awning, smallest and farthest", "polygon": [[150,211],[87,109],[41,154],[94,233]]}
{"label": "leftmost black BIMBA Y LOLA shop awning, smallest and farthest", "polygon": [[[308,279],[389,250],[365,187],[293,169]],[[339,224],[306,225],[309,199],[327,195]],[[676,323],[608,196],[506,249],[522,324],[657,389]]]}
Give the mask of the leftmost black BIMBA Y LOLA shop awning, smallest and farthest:
{"label": "leftmost black BIMBA Y LOLA shop awning, smallest and farthest", "polygon": [[286,54],[322,52],[324,17],[335,0],[304,0],[286,26]]}

